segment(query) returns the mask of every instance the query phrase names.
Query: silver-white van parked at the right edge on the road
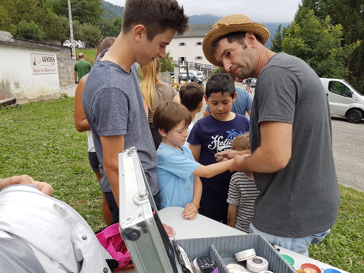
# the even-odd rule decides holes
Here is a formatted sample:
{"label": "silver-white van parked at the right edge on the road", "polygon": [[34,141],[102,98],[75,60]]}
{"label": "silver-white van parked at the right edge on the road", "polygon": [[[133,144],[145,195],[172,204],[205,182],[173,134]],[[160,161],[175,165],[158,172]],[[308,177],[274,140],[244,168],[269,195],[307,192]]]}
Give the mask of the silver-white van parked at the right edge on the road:
{"label": "silver-white van parked at the right edge on the road", "polygon": [[364,116],[364,95],[346,80],[320,78],[332,115],[345,116],[348,122],[359,123]]}

